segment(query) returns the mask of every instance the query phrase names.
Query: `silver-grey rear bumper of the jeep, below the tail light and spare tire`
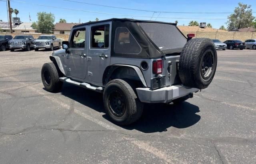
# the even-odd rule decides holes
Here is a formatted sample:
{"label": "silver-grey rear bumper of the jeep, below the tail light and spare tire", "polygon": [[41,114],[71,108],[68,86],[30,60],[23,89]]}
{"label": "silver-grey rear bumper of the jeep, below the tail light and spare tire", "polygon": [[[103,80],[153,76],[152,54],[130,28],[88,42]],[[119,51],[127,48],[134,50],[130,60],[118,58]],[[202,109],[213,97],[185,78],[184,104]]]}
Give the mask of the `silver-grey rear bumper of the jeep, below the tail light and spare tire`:
{"label": "silver-grey rear bumper of the jeep, below the tail light and spare tire", "polygon": [[168,86],[156,90],[136,88],[140,101],[147,103],[168,103],[174,99],[197,92],[198,90],[198,88],[185,88],[182,85]]}

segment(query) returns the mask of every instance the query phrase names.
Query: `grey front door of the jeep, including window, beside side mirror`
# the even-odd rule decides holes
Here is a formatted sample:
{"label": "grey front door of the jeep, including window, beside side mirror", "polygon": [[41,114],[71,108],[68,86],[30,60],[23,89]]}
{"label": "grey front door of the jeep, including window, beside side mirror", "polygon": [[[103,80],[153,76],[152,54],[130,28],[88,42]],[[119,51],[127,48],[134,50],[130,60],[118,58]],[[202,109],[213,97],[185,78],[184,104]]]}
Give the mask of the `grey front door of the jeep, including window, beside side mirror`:
{"label": "grey front door of the jeep, including window, beside side mirror", "polygon": [[70,48],[67,55],[67,76],[83,81],[86,77],[86,54],[87,54],[87,26],[72,29],[70,36]]}

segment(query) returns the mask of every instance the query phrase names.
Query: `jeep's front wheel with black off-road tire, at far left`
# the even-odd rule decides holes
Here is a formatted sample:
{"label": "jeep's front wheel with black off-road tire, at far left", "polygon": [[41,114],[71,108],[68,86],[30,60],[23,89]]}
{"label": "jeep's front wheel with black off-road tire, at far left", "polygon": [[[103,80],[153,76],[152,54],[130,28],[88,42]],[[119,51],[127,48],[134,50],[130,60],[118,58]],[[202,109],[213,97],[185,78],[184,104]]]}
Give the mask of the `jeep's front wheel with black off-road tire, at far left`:
{"label": "jeep's front wheel with black off-road tire, at far left", "polygon": [[[50,80],[47,78],[47,75],[50,76]],[[60,72],[53,62],[45,63],[42,66],[41,78],[44,84],[44,88],[48,92],[58,92],[61,90],[62,82],[59,79],[60,76]]]}

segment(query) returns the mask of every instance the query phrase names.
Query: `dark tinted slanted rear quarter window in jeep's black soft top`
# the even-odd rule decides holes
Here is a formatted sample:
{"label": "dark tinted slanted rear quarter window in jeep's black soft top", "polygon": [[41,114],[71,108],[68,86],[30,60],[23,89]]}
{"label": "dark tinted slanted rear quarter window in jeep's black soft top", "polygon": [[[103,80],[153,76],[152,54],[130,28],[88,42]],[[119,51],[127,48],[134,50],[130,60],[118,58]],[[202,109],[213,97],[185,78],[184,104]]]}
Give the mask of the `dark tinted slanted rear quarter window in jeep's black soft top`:
{"label": "dark tinted slanted rear quarter window in jeep's black soft top", "polygon": [[115,53],[139,54],[141,47],[126,27],[116,28]]}

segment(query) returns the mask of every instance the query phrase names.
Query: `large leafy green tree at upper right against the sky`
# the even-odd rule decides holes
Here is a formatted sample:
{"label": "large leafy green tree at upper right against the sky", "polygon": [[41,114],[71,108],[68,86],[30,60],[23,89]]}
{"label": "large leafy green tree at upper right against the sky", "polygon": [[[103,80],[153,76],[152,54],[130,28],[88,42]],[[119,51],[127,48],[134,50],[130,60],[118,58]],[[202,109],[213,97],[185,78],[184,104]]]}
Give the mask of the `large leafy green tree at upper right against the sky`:
{"label": "large leafy green tree at upper right against the sky", "polygon": [[238,3],[238,7],[235,8],[234,13],[228,16],[228,30],[246,28],[252,25],[254,16],[252,16],[251,5]]}

